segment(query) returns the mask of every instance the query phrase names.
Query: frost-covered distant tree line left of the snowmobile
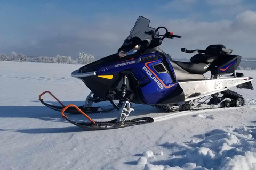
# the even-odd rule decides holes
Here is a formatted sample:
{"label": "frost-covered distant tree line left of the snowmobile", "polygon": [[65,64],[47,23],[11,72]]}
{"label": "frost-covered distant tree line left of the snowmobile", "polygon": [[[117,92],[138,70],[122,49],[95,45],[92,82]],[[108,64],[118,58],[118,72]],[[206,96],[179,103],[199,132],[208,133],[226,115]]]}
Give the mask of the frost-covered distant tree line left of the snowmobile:
{"label": "frost-covered distant tree line left of the snowmobile", "polygon": [[89,64],[95,61],[95,57],[91,54],[84,52],[79,53],[76,60],[73,60],[71,56],[61,56],[57,54],[55,57],[27,57],[23,54],[17,54],[12,52],[10,55],[0,54],[1,61],[13,61],[13,62],[38,62],[38,63],[63,63],[63,64]]}

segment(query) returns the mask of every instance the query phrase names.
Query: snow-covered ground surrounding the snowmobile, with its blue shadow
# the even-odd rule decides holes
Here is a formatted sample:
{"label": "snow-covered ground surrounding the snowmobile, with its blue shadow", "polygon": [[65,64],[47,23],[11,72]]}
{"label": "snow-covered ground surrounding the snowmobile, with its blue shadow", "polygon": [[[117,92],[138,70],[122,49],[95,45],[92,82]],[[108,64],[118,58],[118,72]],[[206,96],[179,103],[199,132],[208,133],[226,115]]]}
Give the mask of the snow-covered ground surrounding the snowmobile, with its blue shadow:
{"label": "snow-covered ground surrounding the snowmobile, with its blue shadow", "polygon": [[[256,169],[255,91],[233,89],[246,99],[240,108],[84,131],[38,101],[38,95],[48,90],[64,104],[83,105],[89,89],[70,75],[79,67],[0,62],[0,169]],[[256,77],[256,71],[239,72]],[[255,80],[252,84],[256,87]],[[43,99],[56,103],[47,94]],[[90,116],[110,120],[116,113]],[[130,118],[165,114],[135,105]]]}

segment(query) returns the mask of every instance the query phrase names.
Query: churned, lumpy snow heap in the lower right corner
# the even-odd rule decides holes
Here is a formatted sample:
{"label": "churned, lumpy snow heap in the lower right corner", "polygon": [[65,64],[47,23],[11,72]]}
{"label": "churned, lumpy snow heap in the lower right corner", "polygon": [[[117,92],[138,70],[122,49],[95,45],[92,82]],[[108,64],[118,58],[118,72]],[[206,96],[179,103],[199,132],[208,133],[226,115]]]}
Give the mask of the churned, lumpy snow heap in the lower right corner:
{"label": "churned, lumpy snow heap in the lower right corner", "polygon": [[167,142],[165,147],[172,153],[169,165],[153,165],[154,159],[146,157],[163,157],[163,154],[144,154],[138,160],[139,165],[145,165],[145,170],[162,169],[256,169],[256,127],[247,129],[229,127],[214,129],[202,135],[203,140],[191,140],[190,143]]}

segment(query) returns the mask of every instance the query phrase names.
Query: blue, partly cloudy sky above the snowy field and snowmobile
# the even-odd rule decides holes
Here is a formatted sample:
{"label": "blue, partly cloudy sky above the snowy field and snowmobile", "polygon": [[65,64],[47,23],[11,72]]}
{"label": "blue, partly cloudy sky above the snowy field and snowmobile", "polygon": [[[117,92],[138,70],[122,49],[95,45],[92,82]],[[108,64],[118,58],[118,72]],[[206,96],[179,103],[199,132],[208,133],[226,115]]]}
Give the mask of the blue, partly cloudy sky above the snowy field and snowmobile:
{"label": "blue, partly cloudy sky above the snowy field and snowmobile", "polygon": [[256,1],[7,1],[0,0],[0,53],[27,56],[79,52],[105,57],[117,52],[139,16],[181,39],[160,46],[172,58],[181,48],[223,44],[243,58],[256,58]]}

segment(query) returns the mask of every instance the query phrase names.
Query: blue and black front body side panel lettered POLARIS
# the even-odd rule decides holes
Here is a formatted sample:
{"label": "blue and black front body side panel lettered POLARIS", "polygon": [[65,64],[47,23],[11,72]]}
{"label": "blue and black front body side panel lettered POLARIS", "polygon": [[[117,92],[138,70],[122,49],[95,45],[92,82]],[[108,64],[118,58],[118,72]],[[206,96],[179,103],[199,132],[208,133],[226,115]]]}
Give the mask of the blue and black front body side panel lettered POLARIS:
{"label": "blue and black front body side panel lettered POLARIS", "polygon": [[[127,94],[130,95],[131,101],[154,105],[175,97],[173,91],[177,88],[177,80],[172,65],[167,63],[166,66],[166,63],[167,59],[162,53],[129,56],[122,61],[114,60],[109,65],[99,65],[96,75],[81,79],[101,99],[118,99],[122,74],[128,74],[130,86]],[[97,64],[94,64],[94,68],[96,66]]]}

